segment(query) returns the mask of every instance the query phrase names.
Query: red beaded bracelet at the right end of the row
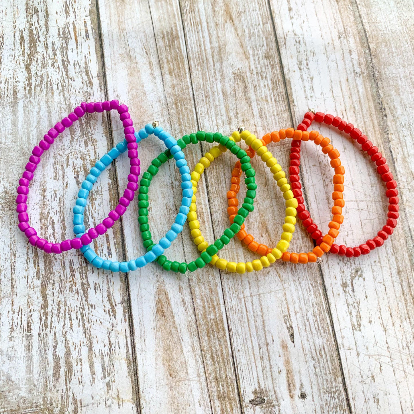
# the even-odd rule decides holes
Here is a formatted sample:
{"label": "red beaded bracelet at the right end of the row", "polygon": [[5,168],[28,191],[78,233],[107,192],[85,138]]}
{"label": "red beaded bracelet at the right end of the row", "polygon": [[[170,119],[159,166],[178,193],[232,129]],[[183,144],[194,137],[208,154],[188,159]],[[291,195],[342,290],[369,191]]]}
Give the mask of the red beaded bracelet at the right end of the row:
{"label": "red beaded bracelet at the right end of the row", "polygon": [[[341,256],[347,257],[358,257],[361,254],[367,255],[371,250],[374,250],[376,247],[380,247],[384,244],[384,241],[387,240],[388,236],[392,234],[394,231],[395,226],[397,226],[397,219],[399,217],[398,214],[398,190],[397,190],[397,182],[394,180],[392,173],[390,172],[390,168],[387,165],[387,162],[383,155],[378,151],[378,147],[373,146],[371,141],[368,141],[368,138],[362,134],[362,132],[354,128],[354,125],[347,123],[346,121],[341,120],[339,116],[333,116],[330,114],[324,114],[322,112],[307,112],[304,115],[304,119],[302,123],[298,125],[299,130],[306,131],[308,127],[310,127],[312,121],[315,120],[318,123],[325,123],[327,125],[332,125],[335,128],[338,128],[339,131],[344,131],[348,134],[351,138],[356,140],[358,144],[361,145],[363,151],[365,151],[370,157],[371,160],[377,166],[377,172],[380,174],[382,180],[386,184],[385,195],[388,198],[388,219],[386,224],[383,228],[378,231],[377,236],[372,239],[368,239],[365,243],[360,244],[356,247],[347,247],[345,245],[338,246],[337,244],[332,244],[330,253],[339,254]],[[300,144],[300,142],[299,142]],[[293,142],[292,142],[293,146]],[[300,145],[297,146],[298,148]],[[295,152],[296,153],[296,152]],[[299,180],[299,166],[300,166],[300,152],[296,153],[297,156],[295,159],[291,159],[291,167],[289,171],[291,172],[290,181],[292,183],[292,187],[295,186],[294,194],[295,197],[301,197],[301,183]],[[291,170],[292,169],[292,170]],[[315,239],[316,243],[320,245],[323,242],[322,232],[318,229],[318,226],[313,223],[312,219],[310,218],[310,213],[306,210],[303,202],[299,203],[301,206],[301,212],[298,214],[298,217],[303,221],[303,224],[306,227],[306,230],[313,239]]]}

